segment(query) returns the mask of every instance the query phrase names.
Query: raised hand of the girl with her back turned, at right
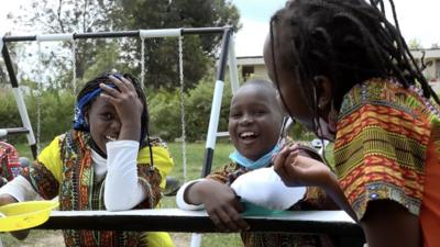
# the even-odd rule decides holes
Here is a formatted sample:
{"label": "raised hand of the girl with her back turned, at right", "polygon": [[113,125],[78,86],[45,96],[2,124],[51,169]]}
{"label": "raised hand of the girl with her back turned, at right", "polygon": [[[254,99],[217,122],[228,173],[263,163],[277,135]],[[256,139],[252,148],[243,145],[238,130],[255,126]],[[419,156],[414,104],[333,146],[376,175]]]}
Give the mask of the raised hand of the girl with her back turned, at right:
{"label": "raised hand of the girl with her back turned, at right", "polygon": [[274,169],[286,186],[323,187],[332,172],[324,164],[299,155],[298,147],[286,146],[274,159]]}

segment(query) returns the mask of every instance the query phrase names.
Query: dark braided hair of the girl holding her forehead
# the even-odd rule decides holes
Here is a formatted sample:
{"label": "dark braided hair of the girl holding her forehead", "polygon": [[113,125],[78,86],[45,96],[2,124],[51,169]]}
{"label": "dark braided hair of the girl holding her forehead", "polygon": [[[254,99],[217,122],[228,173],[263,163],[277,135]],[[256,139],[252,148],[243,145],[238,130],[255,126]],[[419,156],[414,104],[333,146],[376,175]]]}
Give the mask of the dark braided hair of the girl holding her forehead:
{"label": "dark braided hair of the girl holding her forehead", "polygon": [[[86,82],[86,85],[79,91],[79,93],[77,96],[77,102],[79,102],[80,99],[82,99],[82,97],[86,96],[87,93],[98,89],[100,83],[114,85],[109,79],[109,76],[111,76],[111,75],[113,75],[113,74],[106,72],[106,74],[102,74],[102,75],[98,76],[97,78],[91,79],[88,82]],[[123,74],[123,77],[133,83],[134,89],[136,90],[138,97],[141,100],[142,105],[143,105],[142,115],[141,115],[141,137],[140,137],[140,144],[141,144],[140,148],[143,148],[146,145],[148,145],[148,146],[151,145],[150,142],[147,141],[147,138],[150,137],[150,133],[148,133],[150,117],[148,117],[148,109],[147,109],[147,104],[146,104],[145,94],[141,88],[141,85],[139,83],[139,81],[135,77],[133,77],[130,74]],[[116,87],[116,89],[118,90],[118,87]],[[91,100],[86,105],[84,105],[84,108],[85,109],[90,108],[92,102],[94,102],[94,100]],[[151,148],[150,148],[150,150],[151,150]]]}

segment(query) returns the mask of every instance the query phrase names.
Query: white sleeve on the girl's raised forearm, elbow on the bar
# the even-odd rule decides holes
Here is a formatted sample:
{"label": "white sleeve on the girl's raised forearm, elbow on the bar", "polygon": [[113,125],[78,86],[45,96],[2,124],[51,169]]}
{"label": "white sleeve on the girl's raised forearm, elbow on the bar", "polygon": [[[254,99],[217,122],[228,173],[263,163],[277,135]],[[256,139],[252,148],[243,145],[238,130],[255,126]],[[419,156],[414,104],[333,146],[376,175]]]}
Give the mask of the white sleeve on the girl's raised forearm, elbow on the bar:
{"label": "white sleeve on the girl's raised forearm, elbow on the bar", "polygon": [[131,210],[146,198],[138,178],[139,142],[107,143],[107,178],[103,200],[108,211]]}

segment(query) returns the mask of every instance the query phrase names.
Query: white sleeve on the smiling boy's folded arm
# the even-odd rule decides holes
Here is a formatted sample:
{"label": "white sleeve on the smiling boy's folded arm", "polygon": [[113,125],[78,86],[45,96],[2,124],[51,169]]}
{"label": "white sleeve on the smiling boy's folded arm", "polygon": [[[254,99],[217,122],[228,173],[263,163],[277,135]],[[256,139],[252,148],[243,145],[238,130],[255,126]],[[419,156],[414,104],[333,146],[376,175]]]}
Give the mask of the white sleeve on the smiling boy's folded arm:
{"label": "white sleeve on the smiling boy's folded arm", "polygon": [[246,172],[231,188],[246,202],[270,210],[287,210],[301,200],[305,187],[287,187],[272,167]]}

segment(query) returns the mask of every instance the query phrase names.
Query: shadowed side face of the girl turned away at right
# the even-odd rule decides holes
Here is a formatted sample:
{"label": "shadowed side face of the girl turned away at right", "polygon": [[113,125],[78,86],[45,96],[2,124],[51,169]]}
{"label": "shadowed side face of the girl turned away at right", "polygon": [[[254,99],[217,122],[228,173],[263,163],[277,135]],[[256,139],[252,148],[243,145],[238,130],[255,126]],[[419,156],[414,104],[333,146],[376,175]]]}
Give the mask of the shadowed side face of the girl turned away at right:
{"label": "shadowed side face of the girl turned away at right", "polygon": [[[280,35],[278,38],[279,42],[274,45],[273,50],[270,36],[266,38],[264,45],[264,61],[267,67],[268,76],[272,81],[277,85],[279,98],[288,114],[309,131],[315,132],[316,130],[314,130],[312,123],[314,113],[309,106],[309,100],[302,94],[300,87],[304,86],[298,81],[293,64],[288,63],[289,59],[287,56],[293,52],[290,48],[292,44],[285,44],[286,42],[283,42],[288,37],[282,37]],[[275,57],[275,60],[273,57]]]}

